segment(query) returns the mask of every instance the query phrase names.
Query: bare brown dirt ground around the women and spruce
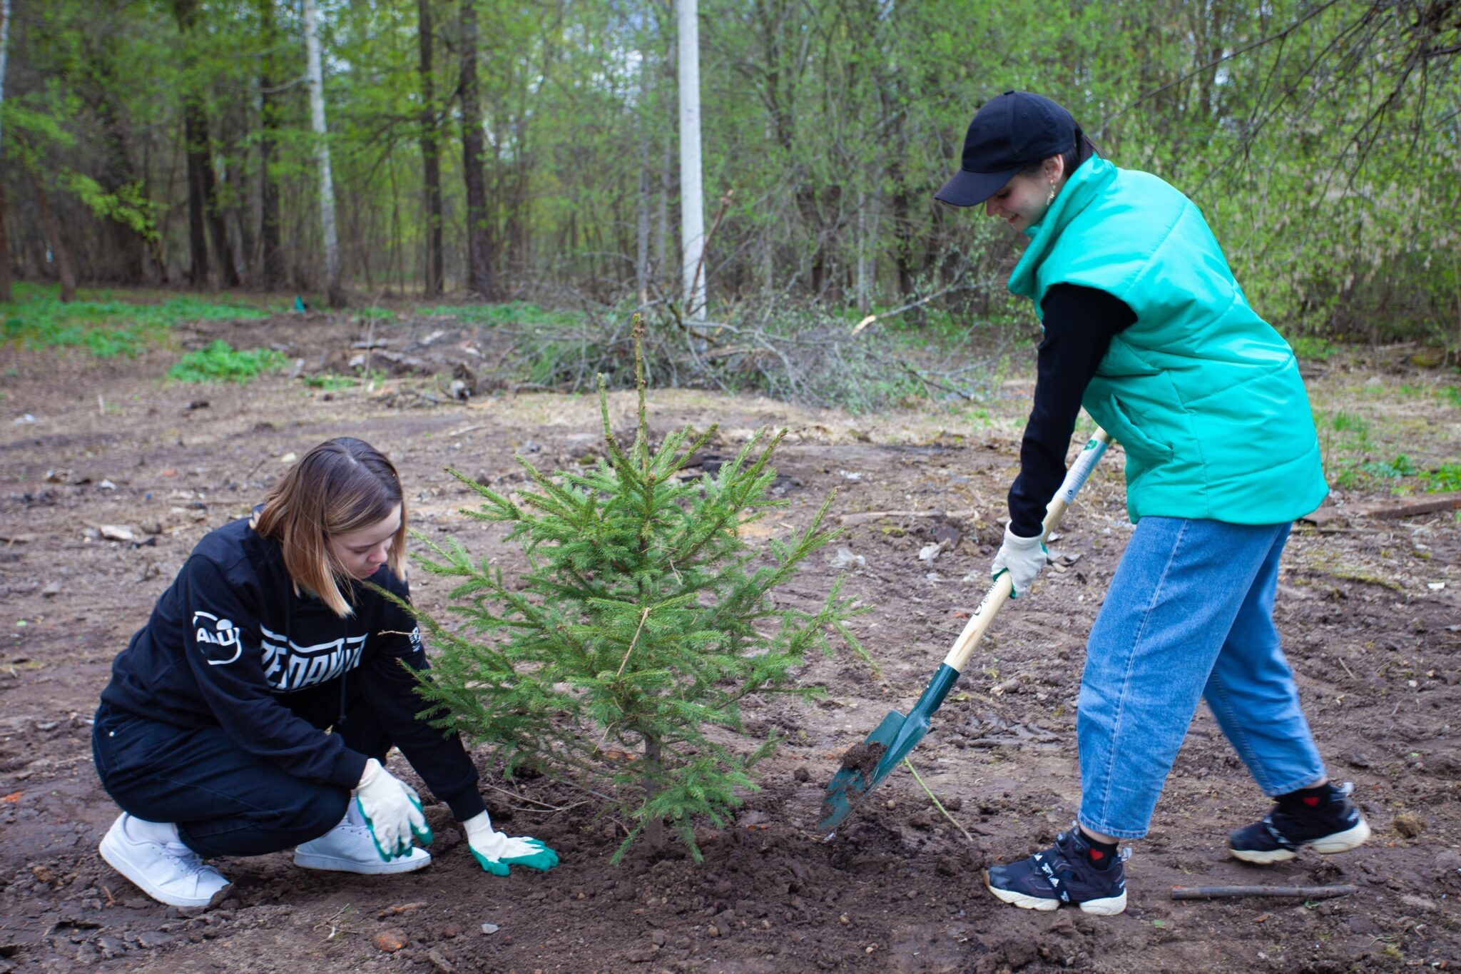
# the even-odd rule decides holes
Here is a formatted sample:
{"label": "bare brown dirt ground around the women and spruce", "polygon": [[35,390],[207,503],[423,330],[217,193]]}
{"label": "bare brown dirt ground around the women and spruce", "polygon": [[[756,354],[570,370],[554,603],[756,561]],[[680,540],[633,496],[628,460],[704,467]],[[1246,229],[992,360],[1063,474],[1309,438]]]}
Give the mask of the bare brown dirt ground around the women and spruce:
{"label": "bare brown dirt ground around the women and spruce", "polygon": [[[820,704],[748,708],[752,729],[774,724],[787,745],[761,765],[764,790],[735,827],[703,831],[703,864],[637,851],[611,866],[617,827],[583,793],[506,781],[478,752],[494,816],[554,845],[557,870],[484,873],[431,805],[435,862],[424,872],[342,878],[297,869],[286,853],[221,860],[234,881],[221,907],[158,905],[96,856],[117,809],[91,764],[91,716],[111,659],[197,539],[260,499],[285,454],[348,434],[396,460],[416,527],[510,570],[519,555],[500,529],[457,513],[468,498],[444,467],[511,488],[514,450],[560,467],[596,438],[592,397],[503,388],[491,336],[450,320],[206,323],[184,345],[276,343],[310,375],[346,371],[367,336],[393,343],[397,371],[415,358],[435,375],[333,391],[288,372],[181,386],[162,381],[177,352],[99,361],[0,348],[0,973],[1461,968],[1461,532],[1449,511],[1357,514],[1379,495],[1347,494],[1334,520],[1296,526],[1277,607],[1321,751],[1335,778],[1356,783],[1375,828],[1362,850],[1268,869],[1227,859],[1227,831],[1267,802],[1204,708],[1128,863],[1125,914],[1030,913],[983,889],[980,867],[1034,851],[1074,818],[1084,637],[1129,533],[1119,451],[1059,529],[1055,567],[1001,613],[913,753],[969,837],[904,770],[834,838],[815,832],[839,756],[913,702],[985,588],[1030,388],[1020,380],[988,419],[652,396],[652,428],[720,422],[729,448],[764,423],[792,429],[776,463],[789,507],[764,534],[805,524],[831,488],[839,515],[951,513],[865,518],[790,587],[789,599],[820,600],[849,571],[849,591],[875,606],[855,628],[881,673],[850,653],[818,659],[804,679],[827,688]],[[453,361],[470,368],[453,372]],[[1419,381],[1397,353],[1335,364],[1311,390],[1343,402],[1372,372],[1381,391]],[[453,374],[481,394],[453,402]],[[1414,425],[1411,456],[1461,457],[1461,409],[1398,393],[1367,402]],[[615,396],[617,416],[630,407]],[[920,561],[935,539],[953,543]],[[421,605],[440,607],[443,583],[413,583]],[[1173,885],[1255,882],[1359,889],[1311,902],[1169,898]],[[378,935],[403,946],[383,951]]]}

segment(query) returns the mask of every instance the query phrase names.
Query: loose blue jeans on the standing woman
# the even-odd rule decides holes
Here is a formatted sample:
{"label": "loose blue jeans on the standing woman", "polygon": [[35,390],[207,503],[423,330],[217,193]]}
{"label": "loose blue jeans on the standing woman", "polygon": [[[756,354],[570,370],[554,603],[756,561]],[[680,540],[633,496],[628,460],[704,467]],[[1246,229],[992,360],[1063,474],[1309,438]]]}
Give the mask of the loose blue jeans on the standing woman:
{"label": "loose blue jeans on the standing woman", "polygon": [[1077,739],[1087,831],[1147,834],[1199,698],[1265,794],[1324,780],[1273,621],[1287,539],[1289,524],[1137,524],[1086,647]]}

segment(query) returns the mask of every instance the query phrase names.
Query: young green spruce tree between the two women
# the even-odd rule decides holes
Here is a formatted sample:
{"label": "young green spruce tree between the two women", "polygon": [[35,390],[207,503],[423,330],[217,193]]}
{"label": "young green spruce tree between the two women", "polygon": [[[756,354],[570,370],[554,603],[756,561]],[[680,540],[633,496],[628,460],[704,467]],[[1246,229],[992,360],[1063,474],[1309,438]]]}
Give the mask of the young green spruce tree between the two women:
{"label": "young green spruce tree between the two women", "polygon": [[441,648],[422,694],[437,726],[495,745],[508,771],[608,783],[630,827],[615,860],[640,834],[660,847],[666,825],[698,860],[695,822],[723,825],[777,743],[774,730],[745,735],[742,701],[812,695],[798,667],[812,647],[830,654],[831,634],[862,653],[846,628],[859,609],[840,578],[815,613],[774,605],[776,587],[836,536],[823,527],[831,496],[805,530],[752,551],[739,529],[785,504],[768,495],[768,464],[786,431],[758,432],[713,476],[682,478],[716,428],[650,447],[638,323],[634,336],[633,444],[611,431],[600,377],[606,459],[592,470],[546,475],[519,456],[533,488],[517,498],[451,472],[485,501],[468,513],[508,524],[529,568],[504,581],[460,542],[421,537],[435,553],[422,567],[457,580],[449,610],[466,621],[449,631],[419,616]]}

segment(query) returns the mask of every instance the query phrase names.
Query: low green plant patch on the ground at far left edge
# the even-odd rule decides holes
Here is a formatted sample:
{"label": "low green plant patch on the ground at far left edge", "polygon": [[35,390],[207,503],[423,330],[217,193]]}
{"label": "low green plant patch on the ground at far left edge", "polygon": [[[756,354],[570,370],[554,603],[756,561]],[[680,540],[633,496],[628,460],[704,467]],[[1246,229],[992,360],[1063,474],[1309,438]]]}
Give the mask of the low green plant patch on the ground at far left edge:
{"label": "low green plant patch on the ground at far left edge", "polygon": [[266,312],[240,304],[205,301],[190,295],[161,302],[114,301],[105,292],[94,299],[63,302],[56,288],[16,285],[16,299],[0,304],[3,337],[22,348],[83,348],[98,358],[134,356],[161,345],[180,321],[259,318]]}

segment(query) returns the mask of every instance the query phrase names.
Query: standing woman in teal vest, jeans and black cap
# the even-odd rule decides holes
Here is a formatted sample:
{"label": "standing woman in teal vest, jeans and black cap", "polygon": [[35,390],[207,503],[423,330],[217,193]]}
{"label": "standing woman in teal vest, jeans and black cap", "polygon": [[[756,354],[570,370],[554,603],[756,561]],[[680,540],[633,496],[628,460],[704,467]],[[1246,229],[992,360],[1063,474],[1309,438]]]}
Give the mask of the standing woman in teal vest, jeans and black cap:
{"label": "standing woman in teal vest, jeans and black cap", "polygon": [[1086,648],[1077,822],[988,870],[989,891],[1033,910],[1125,910],[1118,841],[1147,834],[1201,698],[1275,799],[1229,837],[1233,856],[1360,845],[1369,825],[1349,786],[1328,783],[1273,622],[1289,526],[1328,494],[1292,349],[1248,305],[1197,206],[1099,158],[1048,98],[1011,91],[980,108],[935,196],[1024,231],[1010,291],[1045,329],[993,574],[1008,571],[1018,597],[1045,565],[1040,523],[1083,404],[1126,451],[1137,526]]}

